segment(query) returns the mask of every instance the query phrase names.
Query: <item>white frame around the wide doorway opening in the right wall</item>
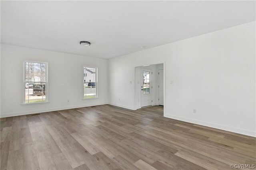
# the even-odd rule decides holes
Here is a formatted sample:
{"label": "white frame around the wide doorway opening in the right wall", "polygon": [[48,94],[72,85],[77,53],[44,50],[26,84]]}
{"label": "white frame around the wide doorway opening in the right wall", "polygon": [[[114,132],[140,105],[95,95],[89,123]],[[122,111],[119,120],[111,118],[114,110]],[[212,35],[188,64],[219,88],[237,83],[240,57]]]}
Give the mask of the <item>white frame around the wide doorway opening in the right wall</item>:
{"label": "white frame around the wide doorway opening in the right wall", "polygon": [[[141,66],[144,66],[144,65],[153,65],[153,64],[164,64],[164,116],[165,116],[165,107],[166,107],[166,104],[165,104],[165,64],[166,62],[165,61],[161,61],[159,63],[144,63],[144,64],[136,64],[134,65],[134,68],[133,68],[133,93],[134,93],[134,104],[133,104],[133,108],[130,108],[132,110],[137,110],[139,108],[136,108],[136,67],[141,67]],[[141,107],[140,107],[141,108]]]}

